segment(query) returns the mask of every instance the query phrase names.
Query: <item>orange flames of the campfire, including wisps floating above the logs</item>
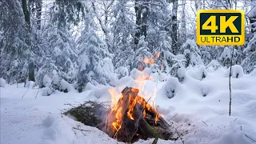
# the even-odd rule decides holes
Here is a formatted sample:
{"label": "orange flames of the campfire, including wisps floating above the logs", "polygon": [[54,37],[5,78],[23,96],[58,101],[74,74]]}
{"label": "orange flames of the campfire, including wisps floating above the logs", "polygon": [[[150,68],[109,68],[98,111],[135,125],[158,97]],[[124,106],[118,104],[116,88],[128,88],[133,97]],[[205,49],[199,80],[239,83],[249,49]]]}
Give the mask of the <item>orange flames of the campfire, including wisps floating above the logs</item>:
{"label": "orange flames of the campfire, including wisps floating above the logs", "polygon": [[[158,51],[154,54],[154,58],[159,57]],[[154,58],[144,58],[143,62],[149,63],[150,65],[154,64]],[[114,130],[114,138],[116,134],[118,134],[118,130],[122,128],[122,118],[129,118],[130,121],[135,121],[136,118],[134,117],[134,110],[136,106],[142,106],[142,117],[151,117],[150,114],[147,114],[148,111],[154,112],[154,124],[158,124],[158,119],[161,118],[161,115],[157,112],[156,107],[154,106],[154,98],[156,97],[157,94],[157,87],[154,87],[154,92],[149,93],[149,91],[144,90],[146,86],[146,80],[154,80],[154,77],[151,76],[150,74],[146,74],[144,71],[141,71],[141,74],[134,78],[135,83],[134,83],[134,88],[131,89],[131,93],[129,95],[129,100],[128,100],[128,111],[123,110],[122,104],[124,103],[124,95],[120,94],[118,90],[116,89],[110,89],[109,92],[111,94],[111,100],[112,100],[112,109],[110,111],[110,114],[108,115],[107,119],[110,118],[109,116],[111,114],[114,114],[114,120],[111,119],[112,123],[111,125],[112,130]],[[139,90],[139,94],[138,94]],[[138,94],[134,96],[134,94]],[[151,102],[153,102],[153,105],[150,106],[148,101],[151,99]],[[107,120],[106,119],[106,120]],[[137,134],[136,134],[137,135]]]}

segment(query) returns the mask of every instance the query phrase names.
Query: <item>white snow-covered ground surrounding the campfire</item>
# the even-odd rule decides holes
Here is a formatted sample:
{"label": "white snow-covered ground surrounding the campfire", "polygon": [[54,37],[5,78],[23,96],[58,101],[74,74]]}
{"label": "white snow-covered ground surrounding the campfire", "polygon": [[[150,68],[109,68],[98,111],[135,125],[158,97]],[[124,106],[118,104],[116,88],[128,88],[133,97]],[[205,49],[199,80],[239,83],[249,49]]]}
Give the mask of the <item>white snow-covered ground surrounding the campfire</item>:
{"label": "white snow-covered ground surrounding the campfire", "polygon": [[[235,69],[234,69],[235,70]],[[201,78],[202,69],[189,68],[182,75],[183,82],[168,78],[155,82],[158,74],[151,80],[135,81],[134,77],[124,77],[118,81],[115,90],[120,92],[125,86],[144,86],[142,96],[154,97],[158,112],[179,134],[184,143],[202,144],[249,144],[256,143],[256,73],[241,74],[231,78],[232,110],[229,112],[229,78],[225,68],[206,70],[206,78]],[[234,71],[234,77],[236,73]],[[165,79],[165,78],[162,78]],[[175,82],[176,81],[176,82]],[[141,85],[142,84],[142,85]],[[145,84],[145,85],[144,85]],[[76,104],[88,99],[110,101],[110,86],[87,86],[78,93],[55,92],[42,96],[42,90],[24,88],[22,84],[1,87],[1,144],[95,144],[117,143],[101,130],[84,126],[72,118],[62,115],[62,110],[70,108],[66,103]],[[174,97],[167,97],[167,89],[174,91]],[[173,90],[172,90],[173,89]],[[26,92],[27,90],[27,92]],[[26,94],[25,94],[26,93]],[[37,96],[38,93],[38,96]],[[24,95],[25,94],[25,95]],[[24,98],[22,99],[22,96]],[[37,96],[37,98],[36,98]],[[75,130],[77,127],[83,130]],[[154,139],[140,140],[136,143],[152,143]],[[118,142],[122,143],[122,142]],[[158,143],[182,143],[158,140]]]}

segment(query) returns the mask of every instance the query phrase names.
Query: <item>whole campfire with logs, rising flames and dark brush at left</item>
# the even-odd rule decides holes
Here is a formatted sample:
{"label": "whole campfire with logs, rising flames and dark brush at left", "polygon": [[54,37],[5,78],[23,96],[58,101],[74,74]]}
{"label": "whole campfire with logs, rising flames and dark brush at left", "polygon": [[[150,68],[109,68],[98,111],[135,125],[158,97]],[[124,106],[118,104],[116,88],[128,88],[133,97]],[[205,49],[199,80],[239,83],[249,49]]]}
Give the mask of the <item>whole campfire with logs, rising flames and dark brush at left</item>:
{"label": "whole campfire with logs, rising flames and dark brush at left", "polygon": [[[156,52],[154,58],[158,57],[159,53]],[[152,65],[154,64],[154,58],[144,58],[143,61]],[[102,104],[86,102],[81,106],[72,108],[66,114],[74,115],[75,118],[80,119],[80,122],[86,125],[97,126],[99,130],[121,142],[135,142],[139,138],[173,139],[170,125],[158,113],[154,103],[150,105],[150,101],[154,102],[157,89],[154,88],[151,97],[144,90],[145,80],[153,81],[154,78],[150,74],[141,71],[141,75],[134,79],[135,88],[126,87],[121,94],[118,94],[115,89],[109,90],[112,97],[110,110],[104,110]],[[139,91],[141,91],[141,96],[138,95]],[[91,118],[85,120],[89,114],[94,120]],[[102,120],[102,116],[104,120]]]}

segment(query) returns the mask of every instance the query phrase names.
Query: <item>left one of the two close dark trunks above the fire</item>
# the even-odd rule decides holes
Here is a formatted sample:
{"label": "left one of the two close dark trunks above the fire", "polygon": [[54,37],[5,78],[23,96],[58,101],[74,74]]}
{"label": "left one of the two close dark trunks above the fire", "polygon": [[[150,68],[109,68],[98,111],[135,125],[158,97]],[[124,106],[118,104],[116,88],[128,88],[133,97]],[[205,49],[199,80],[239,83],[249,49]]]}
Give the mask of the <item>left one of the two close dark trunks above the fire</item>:
{"label": "left one of the two close dark trunks above the fire", "polygon": [[[141,36],[141,31],[140,31],[140,26],[141,26],[141,6],[138,4],[139,0],[135,0],[135,14],[136,14],[136,32],[135,32],[135,37],[134,37],[134,44],[137,46],[138,45],[138,40],[139,37]],[[134,51],[135,51],[135,46],[134,46]]]}

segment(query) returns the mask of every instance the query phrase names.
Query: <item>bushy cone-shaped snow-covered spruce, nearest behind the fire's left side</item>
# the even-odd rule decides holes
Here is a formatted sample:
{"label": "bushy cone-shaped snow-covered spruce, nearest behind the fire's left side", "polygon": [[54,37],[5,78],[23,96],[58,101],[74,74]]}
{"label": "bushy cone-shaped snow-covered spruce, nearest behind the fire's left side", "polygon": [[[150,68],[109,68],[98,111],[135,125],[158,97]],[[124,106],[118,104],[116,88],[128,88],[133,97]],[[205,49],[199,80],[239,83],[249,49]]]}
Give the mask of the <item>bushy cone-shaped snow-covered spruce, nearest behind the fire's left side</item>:
{"label": "bushy cone-shaped snow-covered spruce, nearest behind the fire's left side", "polygon": [[77,74],[77,89],[82,91],[88,82],[94,85],[108,85],[112,80],[114,66],[111,62],[112,55],[107,50],[105,42],[94,32],[87,29],[82,31],[78,39],[79,69]]}

